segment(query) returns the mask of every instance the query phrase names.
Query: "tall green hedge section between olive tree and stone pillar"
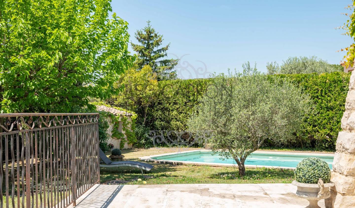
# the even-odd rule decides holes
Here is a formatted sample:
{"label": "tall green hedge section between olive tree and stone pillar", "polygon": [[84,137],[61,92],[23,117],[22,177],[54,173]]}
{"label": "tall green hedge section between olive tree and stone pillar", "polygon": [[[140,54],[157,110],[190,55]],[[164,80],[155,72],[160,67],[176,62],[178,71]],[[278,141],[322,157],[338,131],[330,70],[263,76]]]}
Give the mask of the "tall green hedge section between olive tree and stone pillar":
{"label": "tall green hedge section between olive tree and stone pillar", "polygon": [[324,74],[269,75],[285,78],[303,89],[311,97],[314,109],[297,132],[297,141],[289,141],[293,146],[335,149],[341,119],[345,111],[350,73],[333,72]]}

